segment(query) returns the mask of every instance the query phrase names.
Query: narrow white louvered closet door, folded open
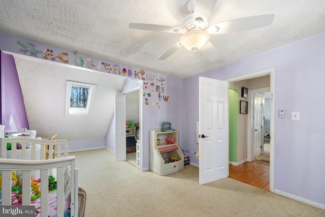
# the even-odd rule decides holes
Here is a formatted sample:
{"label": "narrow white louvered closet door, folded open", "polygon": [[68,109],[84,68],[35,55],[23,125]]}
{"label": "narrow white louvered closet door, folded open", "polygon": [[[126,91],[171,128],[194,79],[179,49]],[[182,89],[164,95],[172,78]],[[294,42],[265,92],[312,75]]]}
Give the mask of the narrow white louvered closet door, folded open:
{"label": "narrow white louvered closet door, folded open", "polygon": [[125,95],[115,95],[115,161],[126,161],[126,104]]}

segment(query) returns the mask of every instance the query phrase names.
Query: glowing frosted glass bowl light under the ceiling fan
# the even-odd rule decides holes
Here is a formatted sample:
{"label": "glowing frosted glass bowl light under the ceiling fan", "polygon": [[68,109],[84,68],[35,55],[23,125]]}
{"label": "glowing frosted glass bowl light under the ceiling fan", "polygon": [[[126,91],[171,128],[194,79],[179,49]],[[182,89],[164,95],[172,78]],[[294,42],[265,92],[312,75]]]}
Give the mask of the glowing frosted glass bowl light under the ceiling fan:
{"label": "glowing frosted glass bowl light under the ceiling fan", "polygon": [[201,29],[193,29],[181,37],[181,44],[193,52],[201,50],[210,41],[210,34]]}

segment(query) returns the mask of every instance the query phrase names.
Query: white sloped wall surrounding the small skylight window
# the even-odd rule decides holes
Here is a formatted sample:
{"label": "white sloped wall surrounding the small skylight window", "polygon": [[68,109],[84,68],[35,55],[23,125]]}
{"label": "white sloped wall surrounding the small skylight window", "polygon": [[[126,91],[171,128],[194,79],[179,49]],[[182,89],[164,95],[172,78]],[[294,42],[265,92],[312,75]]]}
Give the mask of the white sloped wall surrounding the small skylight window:
{"label": "white sloped wall surrounding the small skylight window", "polygon": [[[58,135],[58,139],[104,138],[114,114],[114,95],[125,78],[106,73],[61,67],[50,61],[15,56],[29,128],[37,136]],[[26,70],[27,69],[27,70]],[[66,116],[66,82],[96,84],[89,116]]]}

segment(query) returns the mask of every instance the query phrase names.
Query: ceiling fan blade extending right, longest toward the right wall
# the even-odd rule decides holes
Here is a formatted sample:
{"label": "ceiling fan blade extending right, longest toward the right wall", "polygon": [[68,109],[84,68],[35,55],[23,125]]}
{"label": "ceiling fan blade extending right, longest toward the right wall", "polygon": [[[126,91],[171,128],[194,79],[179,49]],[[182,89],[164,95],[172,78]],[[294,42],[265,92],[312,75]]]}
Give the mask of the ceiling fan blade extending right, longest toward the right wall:
{"label": "ceiling fan blade extending right, longest toward the right wall", "polygon": [[274,14],[266,14],[261,16],[243,17],[228,20],[214,25],[210,25],[207,32],[209,34],[224,34],[235,33],[254,28],[261,28],[271,25],[274,20],[274,17]]}

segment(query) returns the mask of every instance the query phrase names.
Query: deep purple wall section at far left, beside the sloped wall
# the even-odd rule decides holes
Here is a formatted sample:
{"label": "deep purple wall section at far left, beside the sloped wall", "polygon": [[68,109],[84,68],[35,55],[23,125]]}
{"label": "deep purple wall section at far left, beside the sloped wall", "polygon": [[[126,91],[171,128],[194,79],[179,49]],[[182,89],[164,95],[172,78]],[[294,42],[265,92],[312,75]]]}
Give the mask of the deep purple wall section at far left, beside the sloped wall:
{"label": "deep purple wall section at far left, beside the sloped wall", "polygon": [[1,124],[6,126],[5,132],[17,128],[29,129],[14,57],[2,51],[1,105]]}

